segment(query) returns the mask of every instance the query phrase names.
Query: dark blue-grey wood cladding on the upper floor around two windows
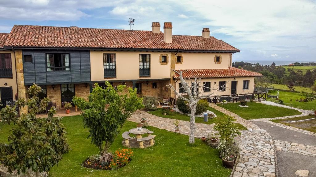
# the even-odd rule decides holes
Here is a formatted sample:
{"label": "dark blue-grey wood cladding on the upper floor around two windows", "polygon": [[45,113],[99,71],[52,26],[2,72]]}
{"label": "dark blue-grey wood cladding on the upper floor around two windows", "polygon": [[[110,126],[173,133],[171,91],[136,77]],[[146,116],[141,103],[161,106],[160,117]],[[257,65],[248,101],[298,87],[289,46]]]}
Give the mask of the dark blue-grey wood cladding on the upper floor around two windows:
{"label": "dark blue-grey wood cladding on the upper floor around two windows", "polygon": [[[67,53],[70,71],[47,71],[46,53]],[[24,84],[80,83],[91,81],[90,51],[23,50]],[[24,55],[32,55],[32,63],[24,62]]]}

